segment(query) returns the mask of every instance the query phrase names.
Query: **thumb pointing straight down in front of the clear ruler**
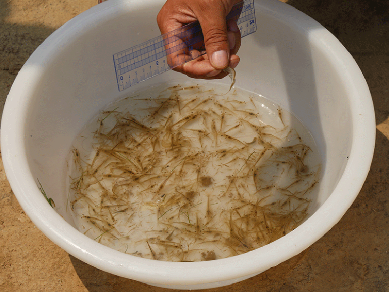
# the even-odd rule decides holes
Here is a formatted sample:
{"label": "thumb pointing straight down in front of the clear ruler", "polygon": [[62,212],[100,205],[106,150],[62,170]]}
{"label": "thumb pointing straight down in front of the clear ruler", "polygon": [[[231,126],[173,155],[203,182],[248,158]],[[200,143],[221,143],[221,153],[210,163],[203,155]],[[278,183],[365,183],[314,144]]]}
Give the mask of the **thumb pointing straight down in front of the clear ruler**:
{"label": "thumb pointing straight down in front of the clear ruler", "polygon": [[230,0],[212,1],[206,10],[197,13],[208,58],[212,66],[219,70],[227,68],[230,63],[226,16],[232,7],[231,2]]}

